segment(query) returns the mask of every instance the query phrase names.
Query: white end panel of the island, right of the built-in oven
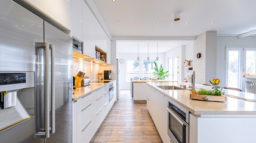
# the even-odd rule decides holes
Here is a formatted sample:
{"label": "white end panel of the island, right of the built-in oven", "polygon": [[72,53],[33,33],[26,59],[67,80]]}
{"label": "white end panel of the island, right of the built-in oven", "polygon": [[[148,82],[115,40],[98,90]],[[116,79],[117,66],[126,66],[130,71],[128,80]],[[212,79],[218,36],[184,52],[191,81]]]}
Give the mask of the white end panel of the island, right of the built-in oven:
{"label": "white end panel of the island, right of the built-in oven", "polygon": [[189,116],[189,142],[255,142],[255,115]]}

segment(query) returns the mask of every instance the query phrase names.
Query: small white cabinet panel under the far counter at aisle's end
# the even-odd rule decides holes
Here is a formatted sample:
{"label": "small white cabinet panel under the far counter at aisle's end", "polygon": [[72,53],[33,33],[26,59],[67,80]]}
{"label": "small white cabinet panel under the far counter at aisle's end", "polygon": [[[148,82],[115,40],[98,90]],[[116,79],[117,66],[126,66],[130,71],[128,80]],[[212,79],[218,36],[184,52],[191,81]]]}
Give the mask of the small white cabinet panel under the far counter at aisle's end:
{"label": "small white cabinet panel under the far counter at aisle's end", "polygon": [[147,94],[149,94],[147,83],[134,82],[133,84],[133,100],[147,100]]}

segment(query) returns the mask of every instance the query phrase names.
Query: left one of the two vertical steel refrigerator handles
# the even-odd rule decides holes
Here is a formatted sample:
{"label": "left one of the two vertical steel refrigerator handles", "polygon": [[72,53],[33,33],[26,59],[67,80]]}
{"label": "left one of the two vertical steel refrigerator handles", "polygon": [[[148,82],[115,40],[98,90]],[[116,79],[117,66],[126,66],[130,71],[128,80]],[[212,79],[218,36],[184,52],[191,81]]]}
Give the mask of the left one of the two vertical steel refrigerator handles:
{"label": "left one of the two vertical steel refrigerator handles", "polygon": [[[49,91],[49,46],[45,42],[36,42],[37,72],[35,98],[35,138],[50,137],[50,91]],[[43,63],[43,64],[42,64]]]}

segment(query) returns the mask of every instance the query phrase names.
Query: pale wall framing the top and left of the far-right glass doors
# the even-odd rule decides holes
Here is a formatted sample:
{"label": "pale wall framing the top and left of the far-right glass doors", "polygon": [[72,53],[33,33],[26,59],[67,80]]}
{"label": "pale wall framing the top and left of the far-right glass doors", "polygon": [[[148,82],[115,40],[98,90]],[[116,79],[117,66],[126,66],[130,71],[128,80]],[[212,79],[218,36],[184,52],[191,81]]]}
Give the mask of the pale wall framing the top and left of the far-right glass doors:
{"label": "pale wall framing the top and left of the far-right glass doors", "polygon": [[237,36],[217,36],[216,77],[220,79],[220,86],[226,85],[226,46],[256,46],[256,36],[238,39]]}

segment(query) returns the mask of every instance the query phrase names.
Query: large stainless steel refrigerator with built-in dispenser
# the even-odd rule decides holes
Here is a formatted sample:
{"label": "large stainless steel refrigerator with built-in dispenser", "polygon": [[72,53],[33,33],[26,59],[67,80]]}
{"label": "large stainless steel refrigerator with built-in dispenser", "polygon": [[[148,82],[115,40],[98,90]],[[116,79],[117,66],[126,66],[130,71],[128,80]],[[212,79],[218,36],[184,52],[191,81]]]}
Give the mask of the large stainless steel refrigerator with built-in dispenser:
{"label": "large stainless steel refrigerator with built-in dispenser", "polygon": [[72,38],[0,2],[0,142],[72,142]]}

